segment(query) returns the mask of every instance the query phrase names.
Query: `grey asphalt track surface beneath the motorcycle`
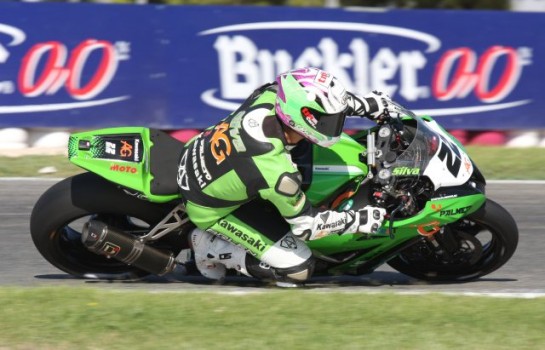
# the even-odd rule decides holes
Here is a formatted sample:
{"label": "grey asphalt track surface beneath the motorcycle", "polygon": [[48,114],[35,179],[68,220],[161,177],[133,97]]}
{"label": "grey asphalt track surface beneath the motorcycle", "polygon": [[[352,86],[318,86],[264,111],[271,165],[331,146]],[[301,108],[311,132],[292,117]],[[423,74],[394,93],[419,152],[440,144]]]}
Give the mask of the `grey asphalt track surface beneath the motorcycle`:
{"label": "grey asphalt track surface beneath the motorcycle", "polygon": [[[55,180],[0,178],[0,286],[85,286],[143,289],[150,291],[213,290],[252,292],[270,289],[251,279],[232,277],[217,285],[200,277],[154,277],[144,281],[77,279],[47,263],[34,248],[29,217],[39,196]],[[545,182],[491,182],[488,196],[502,204],[517,221],[519,246],[513,258],[498,271],[467,283],[428,284],[414,280],[387,266],[373,274],[315,278],[306,288],[347,292],[446,292],[533,297],[545,295]]]}

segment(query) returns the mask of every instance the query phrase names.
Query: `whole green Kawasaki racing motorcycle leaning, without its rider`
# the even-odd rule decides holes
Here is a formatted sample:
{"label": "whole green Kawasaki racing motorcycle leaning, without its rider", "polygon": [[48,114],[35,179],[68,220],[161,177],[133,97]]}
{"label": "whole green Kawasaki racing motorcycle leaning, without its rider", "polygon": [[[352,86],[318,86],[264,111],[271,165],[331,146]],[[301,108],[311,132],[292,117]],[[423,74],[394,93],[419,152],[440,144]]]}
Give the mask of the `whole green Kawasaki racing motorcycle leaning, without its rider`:
{"label": "whole green Kawasaki racing motorcycle leaning, without its rider", "polygon": [[[53,185],[34,206],[38,251],[78,277],[138,279],[191,266],[195,226],[176,182],[183,147],[144,127],[71,135],[69,160],[87,172]],[[388,213],[376,234],[308,241],[315,275],[363,275],[387,263],[420,280],[469,281],[516,250],[514,219],[486,197],[475,163],[431,117],[404,109],[331,148],[304,141],[291,153],[316,207]]]}

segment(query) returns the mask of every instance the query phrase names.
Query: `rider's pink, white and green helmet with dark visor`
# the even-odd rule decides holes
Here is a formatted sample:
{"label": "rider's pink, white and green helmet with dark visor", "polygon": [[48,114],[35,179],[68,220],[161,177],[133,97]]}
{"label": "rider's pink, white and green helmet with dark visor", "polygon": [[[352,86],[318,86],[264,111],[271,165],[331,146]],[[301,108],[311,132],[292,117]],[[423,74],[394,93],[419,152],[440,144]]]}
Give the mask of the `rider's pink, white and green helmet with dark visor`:
{"label": "rider's pink, white and green helmet with dark visor", "polygon": [[329,147],[340,138],[346,117],[344,86],[330,73],[302,68],[276,78],[276,114],[310,142]]}

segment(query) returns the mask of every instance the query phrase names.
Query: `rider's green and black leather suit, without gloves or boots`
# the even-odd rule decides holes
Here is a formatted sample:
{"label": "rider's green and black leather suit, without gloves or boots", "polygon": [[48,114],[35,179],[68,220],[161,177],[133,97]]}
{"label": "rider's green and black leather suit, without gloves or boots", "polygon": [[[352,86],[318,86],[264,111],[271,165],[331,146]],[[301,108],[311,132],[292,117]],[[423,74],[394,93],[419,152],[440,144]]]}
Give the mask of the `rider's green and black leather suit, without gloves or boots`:
{"label": "rider's green and black leather suit, without gloves or boots", "polygon": [[[289,218],[310,205],[300,190],[299,172],[275,116],[275,98],[275,86],[264,87],[237,111],[196,136],[186,147],[178,174],[191,221],[201,229],[222,234],[258,257],[274,244],[275,238],[233,212],[245,203],[264,199],[273,203],[281,216]],[[278,216],[257,210],[254,213]],[[270,225],[270,220],[264,221]],[[280,223],[278,229],[283,231],[278,237],[289,231],[285,223]]]}

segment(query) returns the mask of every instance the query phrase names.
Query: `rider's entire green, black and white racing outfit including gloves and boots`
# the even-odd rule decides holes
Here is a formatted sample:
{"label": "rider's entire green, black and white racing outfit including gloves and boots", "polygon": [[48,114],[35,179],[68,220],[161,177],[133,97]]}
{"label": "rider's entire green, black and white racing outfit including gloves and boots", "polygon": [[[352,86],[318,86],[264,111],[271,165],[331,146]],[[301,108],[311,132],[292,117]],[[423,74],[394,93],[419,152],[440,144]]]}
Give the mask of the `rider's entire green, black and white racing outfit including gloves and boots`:
{"label": "rider's entire green, black and white racing outfit including gloves and boots", "polygon": [[[234,268],[257,278],[304,281],[313,270],[305,240],[372,233],[383,220],[380,208],[312,207],[289,153],[293,146],[275,115],[276,89],[268,84],[256,90],[238,110],[193,138],[182,155],[177,180],[197,226],[191,243],[206,277],[221,279],[225,268]],[[385,108],[376,103],[380,99],[350,96],[354,114],[369,112],[370,103]]]}

